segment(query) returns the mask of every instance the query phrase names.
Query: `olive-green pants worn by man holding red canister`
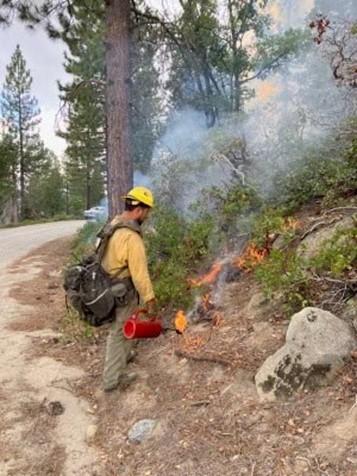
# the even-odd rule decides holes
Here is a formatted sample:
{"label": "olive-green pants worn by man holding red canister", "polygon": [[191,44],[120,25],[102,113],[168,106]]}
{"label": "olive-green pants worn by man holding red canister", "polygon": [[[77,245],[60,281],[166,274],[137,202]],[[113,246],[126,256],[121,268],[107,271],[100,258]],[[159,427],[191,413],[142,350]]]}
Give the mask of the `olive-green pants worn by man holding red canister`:
{"label": "olive-green pants worn by man holding red canister", "polygon": [[123,323],[138,307],[137,296],[133,297],[125,307],[118,307],[115,311],[115,321],[112,323],[108,338],[103,373],[104,390],[112,390],[118,386],[125,374],[130,351],[134,347],[132,340],[126,339],[123,334]]}

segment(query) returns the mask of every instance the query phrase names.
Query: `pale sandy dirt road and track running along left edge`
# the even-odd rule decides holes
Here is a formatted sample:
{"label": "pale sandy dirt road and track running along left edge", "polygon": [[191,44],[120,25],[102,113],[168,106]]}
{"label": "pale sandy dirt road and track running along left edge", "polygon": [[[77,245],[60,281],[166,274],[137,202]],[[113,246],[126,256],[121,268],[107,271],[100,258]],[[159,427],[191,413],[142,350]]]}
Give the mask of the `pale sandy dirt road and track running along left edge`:
{"label": "pale sandy dirt road and track running along left edge", "polygon": [[[82,370],[48,357],[31,358],[36,339],[53,338],[53,332],[14,329],[19,319],[31,316],[33,307],[10,296],[14,286],[25,289],[44,265],[41,254],[35,253],[35,260],[23,257],[48,241],[74,234],[82,224],[66,221],[0,230],[1,476],[94,474],[96,455],[86,442],[93,417],[87,402],[70,389]],[[16,267],[19,258],[21,265]],[[60,271],[53,273],[58,276]]]}

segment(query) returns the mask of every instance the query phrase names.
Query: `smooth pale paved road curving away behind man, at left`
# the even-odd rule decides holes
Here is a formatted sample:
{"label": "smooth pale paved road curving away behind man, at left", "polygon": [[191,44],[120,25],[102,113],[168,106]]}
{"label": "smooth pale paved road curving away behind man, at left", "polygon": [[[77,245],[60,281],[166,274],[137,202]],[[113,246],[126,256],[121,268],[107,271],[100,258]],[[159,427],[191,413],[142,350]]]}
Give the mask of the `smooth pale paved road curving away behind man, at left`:
{"label": "smooth pale paved road curving away behind man, at left", "polygon": [[73,235],[84,223],[71,220],[0,229],[0,271],[48,241]]}

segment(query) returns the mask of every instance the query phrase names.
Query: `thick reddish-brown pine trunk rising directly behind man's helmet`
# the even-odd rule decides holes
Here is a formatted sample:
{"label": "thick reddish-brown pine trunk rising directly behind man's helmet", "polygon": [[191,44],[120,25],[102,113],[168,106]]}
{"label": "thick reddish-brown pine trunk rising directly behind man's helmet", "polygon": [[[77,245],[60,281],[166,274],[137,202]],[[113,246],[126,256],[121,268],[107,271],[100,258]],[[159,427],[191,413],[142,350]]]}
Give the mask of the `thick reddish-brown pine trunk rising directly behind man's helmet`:
{"label": "thick reddish-brown pine trunk rising directly behind man's helmet", "polygon": [[129,132],[130,0],[106,0],[106,117],[109,216],[133,184]]}

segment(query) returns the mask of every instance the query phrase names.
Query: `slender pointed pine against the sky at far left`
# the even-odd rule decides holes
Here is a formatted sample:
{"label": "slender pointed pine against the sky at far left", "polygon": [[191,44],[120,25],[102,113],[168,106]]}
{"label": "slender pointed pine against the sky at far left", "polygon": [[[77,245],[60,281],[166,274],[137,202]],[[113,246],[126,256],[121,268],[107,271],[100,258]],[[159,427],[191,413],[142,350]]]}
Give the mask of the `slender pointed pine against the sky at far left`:
{"label": "slender pointed pine against the sky at far left", "polygon": [[17,45],[7,66],[1,108],[9,135],[17,149],[13,175],[18,179],[21,218],[25,217],[28,179],[37,171],[43,158],[37,130],[40,111],[36,98],[31,94],[31,85],[31,73]]}

